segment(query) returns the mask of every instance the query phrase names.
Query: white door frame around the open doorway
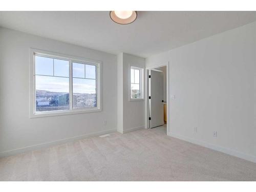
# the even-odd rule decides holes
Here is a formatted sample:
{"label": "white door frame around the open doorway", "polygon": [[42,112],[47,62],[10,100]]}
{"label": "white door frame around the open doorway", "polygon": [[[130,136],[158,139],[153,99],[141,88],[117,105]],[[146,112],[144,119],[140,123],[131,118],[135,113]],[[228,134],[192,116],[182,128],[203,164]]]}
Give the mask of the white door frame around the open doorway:
{"label": "white door frame around the open doorway", "polygon": [[152,67],[146,67],[145,68],[145,128],[149,129],[149,102],[148,102],[148,82],[147,82],[147,78],[148,78],[148,72],[147,70],[152,70],[155,68],[160,68],[160,67],[164,67],[166,66],[166,104],[167,104],[167,123],[166,123],[166,135],[168,135],[168,133],[170,132],[170,123],[169,123],[169,62],[165,62],[162,63],[161,65],[156,65],[156,66],[152,66]]}

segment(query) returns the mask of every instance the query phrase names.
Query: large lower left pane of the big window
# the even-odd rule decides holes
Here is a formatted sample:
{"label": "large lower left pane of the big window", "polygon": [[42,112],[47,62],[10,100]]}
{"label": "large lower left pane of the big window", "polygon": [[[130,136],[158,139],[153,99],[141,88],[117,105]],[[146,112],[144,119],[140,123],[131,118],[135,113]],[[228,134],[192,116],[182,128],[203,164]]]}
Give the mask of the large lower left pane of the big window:
{"label": "large lower left pane of the big window", "polygon": [[36,111],[69,110],[69,78],[35,76]]}

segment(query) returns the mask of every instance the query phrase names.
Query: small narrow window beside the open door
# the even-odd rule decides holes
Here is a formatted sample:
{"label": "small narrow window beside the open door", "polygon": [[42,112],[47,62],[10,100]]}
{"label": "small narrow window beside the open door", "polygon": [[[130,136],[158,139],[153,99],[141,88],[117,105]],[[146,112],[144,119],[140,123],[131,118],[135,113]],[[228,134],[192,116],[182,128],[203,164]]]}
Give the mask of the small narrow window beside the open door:
{"label": "small narrow window beside the open door", "polygon": [[143,99],[143,69],[131,67],[130,100]]}

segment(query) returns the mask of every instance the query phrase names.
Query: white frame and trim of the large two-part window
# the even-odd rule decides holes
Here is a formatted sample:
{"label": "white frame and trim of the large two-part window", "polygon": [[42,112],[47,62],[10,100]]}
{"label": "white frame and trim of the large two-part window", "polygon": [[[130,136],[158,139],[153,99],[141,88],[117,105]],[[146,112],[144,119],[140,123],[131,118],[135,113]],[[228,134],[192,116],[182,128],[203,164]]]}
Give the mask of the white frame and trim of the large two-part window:
{"label": "white frame and trim of the large two-part window", "polygon": [[[35,99],[35,55],[52,57],[56,59],[65,59],[69,61],[69,110],[58,110],[58,111],[44,111],[36,112],[36,99]],[[96,107],[92,108],[73,108],[73,76],[72,76],[72,63],[78,62],[82,64],[94,65],[96,66]],[[101,61],[92,60],[87,58],[75,57],[66,54],[54,53],[49,51],[43,51],[38,49],[30,49],[30,118],[36,117],[49,117],[58,115],[71,115],[79,113],[91,113],[101,111]]]}

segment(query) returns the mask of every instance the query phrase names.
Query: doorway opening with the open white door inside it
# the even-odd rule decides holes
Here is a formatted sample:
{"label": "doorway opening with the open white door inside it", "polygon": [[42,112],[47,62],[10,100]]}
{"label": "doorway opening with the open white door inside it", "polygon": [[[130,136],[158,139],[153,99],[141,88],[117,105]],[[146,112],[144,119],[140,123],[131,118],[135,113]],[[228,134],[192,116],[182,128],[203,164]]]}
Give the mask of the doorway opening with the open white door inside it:
{"label": "doorway opening with the open white door inside it", "polygon": [[146,68],[146,127],[169,133],[168,63]]}

